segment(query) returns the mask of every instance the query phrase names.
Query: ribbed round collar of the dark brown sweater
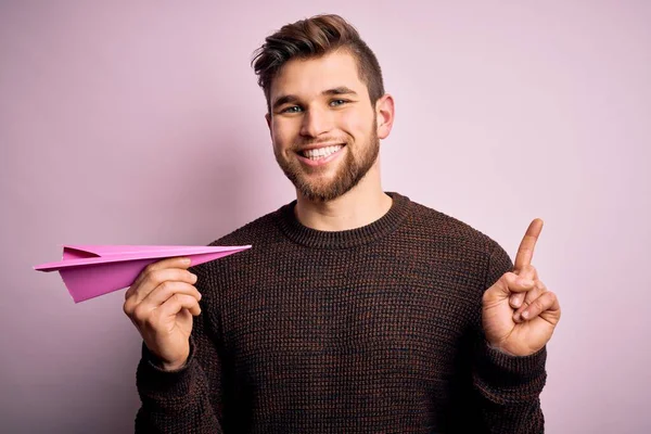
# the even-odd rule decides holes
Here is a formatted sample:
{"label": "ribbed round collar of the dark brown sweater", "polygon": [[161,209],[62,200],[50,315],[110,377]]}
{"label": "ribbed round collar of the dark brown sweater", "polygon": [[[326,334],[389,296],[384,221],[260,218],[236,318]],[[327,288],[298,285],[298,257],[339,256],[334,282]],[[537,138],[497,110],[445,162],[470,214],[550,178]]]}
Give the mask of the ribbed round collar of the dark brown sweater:
{"label": "ribbed round collar of the dark brown sweater", "polygon": [[275,219],[291,241],[316,248],[348,248],[379,240],[394,230],[405,220],[411,207],[409,197],[395,192],[387,192],[392,205],[378,220],[360,228],[344,231],[320,231],[302,225],[294,213],[296,201],[293,201],[275,214]]}

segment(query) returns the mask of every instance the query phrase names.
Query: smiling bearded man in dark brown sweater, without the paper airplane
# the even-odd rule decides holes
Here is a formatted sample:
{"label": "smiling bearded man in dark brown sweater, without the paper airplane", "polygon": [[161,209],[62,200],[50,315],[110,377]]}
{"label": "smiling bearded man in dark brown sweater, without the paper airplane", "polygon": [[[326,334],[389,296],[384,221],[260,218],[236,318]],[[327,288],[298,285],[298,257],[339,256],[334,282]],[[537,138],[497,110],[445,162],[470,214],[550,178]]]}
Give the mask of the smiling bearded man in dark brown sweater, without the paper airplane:
{"label": "smiling bearded man in dark brown sweater, without the paper airplane", "polygon": [[[138,432],[538,433],[560,319],[531,266],[380,180],[394,102],[336,15],[254,60],[296,201],[216,241],[253,248],[148,267],[125,311],[144,340]],[[193,317],[196,317],[193,321]]]}

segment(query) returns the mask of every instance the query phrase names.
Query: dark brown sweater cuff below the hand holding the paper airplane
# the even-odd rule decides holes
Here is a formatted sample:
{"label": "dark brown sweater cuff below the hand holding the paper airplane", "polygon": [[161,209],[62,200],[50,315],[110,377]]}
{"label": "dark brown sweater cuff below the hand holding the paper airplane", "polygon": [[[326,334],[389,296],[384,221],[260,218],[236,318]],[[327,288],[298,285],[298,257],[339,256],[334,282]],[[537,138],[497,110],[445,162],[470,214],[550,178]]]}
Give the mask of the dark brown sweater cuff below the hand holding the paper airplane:
{"label": "dark brown sweater cuff below the hand holding the paper airplane", "polygon": [[190,354],[183,367],[166,371],[161,367],[158,358],[142,344],[142,358],[138,365],[137,383],[140,395],[144,398],[174,399],[187,396],[192,390],[195,346],[190,337]]}

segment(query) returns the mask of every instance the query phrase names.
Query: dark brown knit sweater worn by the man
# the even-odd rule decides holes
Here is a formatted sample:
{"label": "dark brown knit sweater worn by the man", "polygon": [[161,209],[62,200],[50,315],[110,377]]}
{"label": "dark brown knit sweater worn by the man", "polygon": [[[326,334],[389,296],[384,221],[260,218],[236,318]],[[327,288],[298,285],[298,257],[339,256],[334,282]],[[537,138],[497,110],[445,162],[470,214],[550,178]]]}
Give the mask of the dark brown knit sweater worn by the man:
{"label": "dark brown knit sweater worn by the man", "polygon": [[396,193],[366,227],[302,226],[294,203],[215,242],[186,368],[143,347],[141,433],[540,433],[545,349],[487,347],[481,298],[511,260]]}

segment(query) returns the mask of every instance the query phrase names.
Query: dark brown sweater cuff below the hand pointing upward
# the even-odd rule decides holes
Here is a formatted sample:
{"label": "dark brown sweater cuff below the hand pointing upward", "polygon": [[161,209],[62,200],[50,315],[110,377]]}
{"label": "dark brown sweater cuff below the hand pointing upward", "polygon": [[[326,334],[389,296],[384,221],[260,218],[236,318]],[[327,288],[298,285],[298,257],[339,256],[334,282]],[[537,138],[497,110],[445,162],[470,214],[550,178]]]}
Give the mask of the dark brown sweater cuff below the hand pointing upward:
{"label": "dark brown sweater cuff below the hand pointing upward", "polygon": [[547,347],[529,356],[509,356],[484,343],[475,367],[475,384],[495,401],[537,399],[545,387]]}

